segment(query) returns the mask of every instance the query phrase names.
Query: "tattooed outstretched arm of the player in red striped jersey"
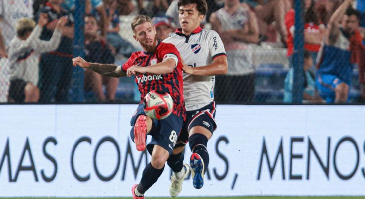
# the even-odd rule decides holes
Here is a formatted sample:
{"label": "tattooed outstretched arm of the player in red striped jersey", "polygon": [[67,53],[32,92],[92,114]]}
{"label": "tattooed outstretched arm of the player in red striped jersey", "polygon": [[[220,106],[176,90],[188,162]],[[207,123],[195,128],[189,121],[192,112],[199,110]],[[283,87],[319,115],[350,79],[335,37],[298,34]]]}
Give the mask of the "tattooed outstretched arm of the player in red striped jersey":
{"label": "tattooed outstretched arm of the player in red striped jersey", "polygon": [[80,66],[82,68],[87,68],[93,70],[101,75],[108,77],[123,77],[126,73],[122,70],[121,66],[115,64],[98,64],[87,62],[82,57],[75,57],[72,59],[73,66]]}

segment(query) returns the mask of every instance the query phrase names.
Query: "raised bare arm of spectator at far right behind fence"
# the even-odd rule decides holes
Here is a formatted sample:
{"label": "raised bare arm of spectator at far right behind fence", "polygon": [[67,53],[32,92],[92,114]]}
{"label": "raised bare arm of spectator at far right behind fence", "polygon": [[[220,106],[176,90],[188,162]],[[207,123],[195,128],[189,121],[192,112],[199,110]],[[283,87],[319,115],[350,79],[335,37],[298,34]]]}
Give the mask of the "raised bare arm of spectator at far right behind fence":
{"label": "raised bare arm of spectator at far right behind fence", "polygon": [[353,0],[344,0],[344,2],[337,8],[337,10],[332,14],[327,28],[326,43],[333,44],[336,42],[340,30],[339,21],[344,16],[346,9],[350,6]]}

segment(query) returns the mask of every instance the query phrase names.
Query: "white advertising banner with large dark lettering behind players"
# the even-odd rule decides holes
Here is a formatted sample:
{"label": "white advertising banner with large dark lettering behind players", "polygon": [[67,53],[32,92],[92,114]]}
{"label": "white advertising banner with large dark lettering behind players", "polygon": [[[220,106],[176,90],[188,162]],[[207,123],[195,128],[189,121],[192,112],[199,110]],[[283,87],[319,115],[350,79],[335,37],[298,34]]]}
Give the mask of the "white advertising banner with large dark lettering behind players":
{"label": "white advertising banner with large dark lettering behind players", "polygon": [[[136,108],[0,105],[0,196],[131,196],[150,162],[129,137]],[[365,196],[364,114],[365,106],[218,105],[204,186],[186,179],[179,196]],[[145,195],[169,196],[170,175],[166,164]]]}

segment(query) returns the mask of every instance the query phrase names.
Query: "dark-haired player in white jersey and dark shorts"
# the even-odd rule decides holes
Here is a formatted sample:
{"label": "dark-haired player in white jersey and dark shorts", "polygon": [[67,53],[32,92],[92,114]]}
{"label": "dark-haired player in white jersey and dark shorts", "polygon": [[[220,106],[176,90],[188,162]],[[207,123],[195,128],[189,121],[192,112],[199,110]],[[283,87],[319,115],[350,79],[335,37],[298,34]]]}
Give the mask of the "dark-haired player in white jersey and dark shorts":
{"label": "dark-haired player in white jersey and dark shorts", "polygon": [[183,164],[184,147],[189,142],[192,155],[190,166],[193,186],[203,186],[204,174],[209,163],[207,142],[216,129],[214,120],[216,104],[213,100],[215,75],[228,70],[225,49],[217,32],[200,27],[207,11],[205,0],[179,0],[181,28],[164,42],[172,43],[180,51],[183,64],[183,82],[186,121],[167,160],[173,175],[170,194],[176,197],[182,190],[182,182],[189,173],[189,165]]}

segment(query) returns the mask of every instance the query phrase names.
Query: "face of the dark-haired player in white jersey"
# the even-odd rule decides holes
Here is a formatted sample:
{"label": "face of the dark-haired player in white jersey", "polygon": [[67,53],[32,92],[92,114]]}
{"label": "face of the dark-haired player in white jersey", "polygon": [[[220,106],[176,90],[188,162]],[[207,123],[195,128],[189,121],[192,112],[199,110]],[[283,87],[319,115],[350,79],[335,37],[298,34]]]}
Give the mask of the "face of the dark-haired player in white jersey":
{"label": "face of the dark-haired player in white jersey", "polygon": [[197,4],[187,4],[179,7],[179,22],[184,34],[190,34],[204,19],[204,15],[197,10]]}

